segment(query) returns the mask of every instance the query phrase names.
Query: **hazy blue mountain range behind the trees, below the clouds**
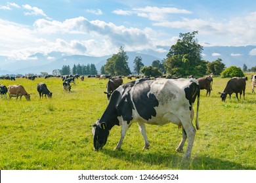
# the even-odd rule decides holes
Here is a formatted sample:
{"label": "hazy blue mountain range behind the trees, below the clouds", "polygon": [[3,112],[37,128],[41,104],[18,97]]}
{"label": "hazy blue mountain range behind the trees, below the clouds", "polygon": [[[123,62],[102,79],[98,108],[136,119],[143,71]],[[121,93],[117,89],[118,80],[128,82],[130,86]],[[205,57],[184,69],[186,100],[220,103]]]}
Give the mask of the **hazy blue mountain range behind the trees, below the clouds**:
{"label": "hazy blue mountain range behind the trees, below the clouds", "polygon": [[[165,48],[169,50],[169,48]],[[253,55],[254,51],[254,55]],[[152,61],[158,59],[162,60],[166,58],[166,53],[160,54],[154,51],[147,52],[126,52],[128,59],[128,65],[133,71],[133,61],[137,56],[142,58],[142,63],[148,66],[152,64]],[[68,56],[62,52],[52,52],[45,56],[44,54],[37,53],[30,56],[28,60],[11,61],[5,56],[0,56],[0,75],[7,74],[40,74],[41,72],[47,72],[51,74],[54,69],[62,69],[63,65],[87,65],[88,63],[95,64],[96,69],[100,71],[100,67],[106,63],[106,60],[110,56],[91,57],[73,55]],[[256,46],[211,46],[203,47],[202,59],[207,61],[215,61],[221,58],[226,67],[236,65],[237,67],[243,67],[245,64],[247,68],[256,66]]]}

